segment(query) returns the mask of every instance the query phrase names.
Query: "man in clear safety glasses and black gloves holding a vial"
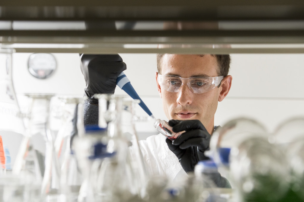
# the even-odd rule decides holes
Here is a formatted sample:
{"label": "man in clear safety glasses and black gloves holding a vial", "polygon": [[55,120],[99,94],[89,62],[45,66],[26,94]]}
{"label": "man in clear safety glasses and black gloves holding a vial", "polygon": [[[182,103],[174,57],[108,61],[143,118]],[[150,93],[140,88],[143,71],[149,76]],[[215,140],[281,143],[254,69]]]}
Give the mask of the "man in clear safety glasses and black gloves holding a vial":
{"label": "man in clear safety glasses and black gloves holding a vial", "polygon": [[[97,77],[90,79],[92,76],[87,76],[85,92],[86,96],[90,97],[90,103],[94,105],[96,102],[92,100],[92,93],[108,93],[104,92],[106,89],[102,86],[109,86],[109,83],[113,89],[110,93],[114,93],[114,78],[125,69],[125,65],[122,65],[122,59],[119,57],[115,60],[116,65],[112,62],[111,70],[108,71],[101,66],[109,65],[109,62],[105,63],[105,58],[110,56],[104,56],[98,60],[99,62],[88,62],[85,57],[87,56],[81,57],[85,78],[89,75],[87,72],[90,67],[104,78],[107,78],[106,75],[111,76],[104,81],[98,81]],[[169,125],[173,126],[174,132],[185,132],[173,141],[161,134],[140,141],[150,174],[166,175],[173,180],[185,175],[186,172],[192,172],[199,160],[208,159],[204,156],[204,151],[209,149],[217,104],[226,97],[231,87],[232,76],[228,75],[229,66],[228,55],[157,55],[156,81],[163,100],[164,113],[170,120]],[[101,83],[99,86],[96,85],[98,82]],[[90,116],[96,111],[92,110],[92,105],[87,104],[85,108],[85,114]],[[220,175],[215,181],[219,187],[229,186]]]}

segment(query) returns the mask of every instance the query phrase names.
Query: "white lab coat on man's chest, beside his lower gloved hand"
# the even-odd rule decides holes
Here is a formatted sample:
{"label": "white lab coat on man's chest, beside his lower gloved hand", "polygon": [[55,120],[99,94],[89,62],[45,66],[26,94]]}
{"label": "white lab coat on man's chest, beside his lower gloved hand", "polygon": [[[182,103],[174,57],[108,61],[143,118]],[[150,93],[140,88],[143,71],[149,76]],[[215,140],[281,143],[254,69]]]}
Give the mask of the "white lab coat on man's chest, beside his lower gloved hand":
{"label": "white lab coat on man's chest, beside his lower gloved hand", "polygon": [[187,175],[178,158],[169,150],[164,135],[149,136],[146,140],[140,140],[139,144],[148,174],[165,175],[172,181]]}

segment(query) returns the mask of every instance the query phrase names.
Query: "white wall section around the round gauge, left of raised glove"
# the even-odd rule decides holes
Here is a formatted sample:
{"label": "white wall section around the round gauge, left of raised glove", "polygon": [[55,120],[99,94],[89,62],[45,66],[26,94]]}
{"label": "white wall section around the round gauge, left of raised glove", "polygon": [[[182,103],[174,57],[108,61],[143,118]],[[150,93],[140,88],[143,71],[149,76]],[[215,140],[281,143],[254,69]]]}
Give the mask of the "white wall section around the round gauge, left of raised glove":
{"label": "white wall section around the round gauge, left of raised glove", "polygon": [[47,79],[37,79],[29,73],[27,62],[30,54],[13,54],[13,82],[17,94],[83,95],[85,81],[79,67],[78,54],[53,53],[57,61],[57,69]]}

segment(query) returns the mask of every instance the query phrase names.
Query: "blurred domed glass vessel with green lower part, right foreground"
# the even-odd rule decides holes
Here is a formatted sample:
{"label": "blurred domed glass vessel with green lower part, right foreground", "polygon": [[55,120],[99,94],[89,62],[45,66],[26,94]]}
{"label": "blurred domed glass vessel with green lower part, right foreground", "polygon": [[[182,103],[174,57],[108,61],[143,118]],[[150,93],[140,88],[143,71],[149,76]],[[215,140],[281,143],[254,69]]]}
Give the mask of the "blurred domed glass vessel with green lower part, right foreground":
{"label": "blurred domed glass vessel with green lower part, right foreground", "polygon": [[232,148],[230,173],[240,201],[281,201],[289,189],[285,151],[267,136],[250,137]]}

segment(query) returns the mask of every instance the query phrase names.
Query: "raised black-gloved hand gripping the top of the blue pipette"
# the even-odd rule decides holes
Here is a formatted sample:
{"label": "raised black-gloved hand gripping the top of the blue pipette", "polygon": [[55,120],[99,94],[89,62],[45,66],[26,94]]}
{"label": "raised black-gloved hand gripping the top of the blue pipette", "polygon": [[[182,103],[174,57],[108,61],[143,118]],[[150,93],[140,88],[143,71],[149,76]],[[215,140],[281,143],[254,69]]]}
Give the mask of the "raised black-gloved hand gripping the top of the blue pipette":
{"label": "raised black-gloved hand gripping the top of the blue pipette", "polygon": [[91,104],[98,104],[95,93],[114,93],[117,76],[126,70],[126,64],[118,54],[82,54],[81,72],[85,77],[85,96]]}

